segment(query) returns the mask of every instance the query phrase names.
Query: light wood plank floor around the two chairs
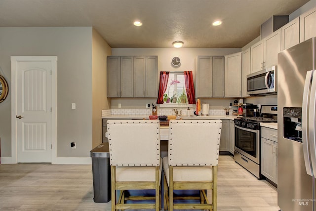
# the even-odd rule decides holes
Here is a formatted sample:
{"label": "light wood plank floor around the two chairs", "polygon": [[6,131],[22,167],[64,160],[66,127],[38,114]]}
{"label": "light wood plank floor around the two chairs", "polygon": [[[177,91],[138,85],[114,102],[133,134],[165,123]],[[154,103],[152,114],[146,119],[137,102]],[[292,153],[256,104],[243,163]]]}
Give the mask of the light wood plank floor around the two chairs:
{"label": "light wood plank floor around the two chairs", "polygon": [[[0,165],[0,211],[110,211],[94,203],[90,165]],[[278,211],[277,191],[221,155],[218,211]]]}

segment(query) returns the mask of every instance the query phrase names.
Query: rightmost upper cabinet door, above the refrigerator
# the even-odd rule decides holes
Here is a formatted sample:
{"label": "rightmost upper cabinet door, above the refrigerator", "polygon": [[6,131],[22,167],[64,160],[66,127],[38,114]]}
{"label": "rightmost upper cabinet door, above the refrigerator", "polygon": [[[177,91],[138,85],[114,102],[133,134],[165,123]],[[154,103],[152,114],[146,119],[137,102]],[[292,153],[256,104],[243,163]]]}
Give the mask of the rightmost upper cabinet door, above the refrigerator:
{"label": "rightmost upper cabinet door, above the refrigerator", "polygon": [[316,10],[305,12],[300,16],[300,42],[316,37]]}

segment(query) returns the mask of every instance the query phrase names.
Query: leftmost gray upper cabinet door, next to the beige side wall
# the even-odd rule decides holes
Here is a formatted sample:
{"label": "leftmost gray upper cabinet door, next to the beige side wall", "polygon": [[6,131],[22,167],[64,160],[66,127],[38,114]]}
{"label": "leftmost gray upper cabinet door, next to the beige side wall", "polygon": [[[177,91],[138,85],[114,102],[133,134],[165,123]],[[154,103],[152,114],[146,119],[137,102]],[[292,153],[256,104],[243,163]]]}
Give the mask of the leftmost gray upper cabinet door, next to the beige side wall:
{"label": "leftmost gray upper cabinet door, next to the beige side wall", "polygon": [[107,57],[107,97],[120,96],[120,58]]}

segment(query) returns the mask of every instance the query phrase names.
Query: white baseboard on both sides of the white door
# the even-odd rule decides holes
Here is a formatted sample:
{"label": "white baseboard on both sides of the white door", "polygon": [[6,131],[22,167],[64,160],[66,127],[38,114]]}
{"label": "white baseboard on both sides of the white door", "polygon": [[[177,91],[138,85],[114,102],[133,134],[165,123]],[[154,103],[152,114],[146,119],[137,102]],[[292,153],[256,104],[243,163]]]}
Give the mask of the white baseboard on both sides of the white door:
{"label": "white baseboard on both sides of the white door", "polygon": [[[13,164],[11,157],[1,157],[0,159],[1,164]],[[91,161],[90,157],[57,157],[51,164],[91,165]]]}

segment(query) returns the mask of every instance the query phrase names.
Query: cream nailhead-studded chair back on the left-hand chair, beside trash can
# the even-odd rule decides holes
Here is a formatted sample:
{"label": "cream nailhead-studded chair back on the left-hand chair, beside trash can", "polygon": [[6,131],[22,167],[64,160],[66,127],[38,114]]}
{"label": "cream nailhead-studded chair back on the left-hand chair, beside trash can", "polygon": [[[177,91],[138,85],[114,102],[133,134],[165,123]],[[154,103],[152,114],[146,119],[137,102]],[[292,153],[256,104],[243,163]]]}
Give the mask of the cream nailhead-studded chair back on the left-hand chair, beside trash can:
{"label": "cream nailhead-studded chair back on the left-hand chair, beside trash can", "polygon": [[111,166],[159,166],[159,120],[108,120]]}

